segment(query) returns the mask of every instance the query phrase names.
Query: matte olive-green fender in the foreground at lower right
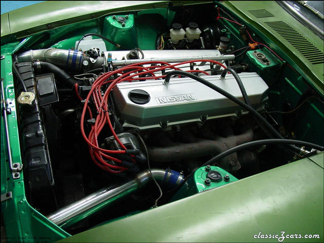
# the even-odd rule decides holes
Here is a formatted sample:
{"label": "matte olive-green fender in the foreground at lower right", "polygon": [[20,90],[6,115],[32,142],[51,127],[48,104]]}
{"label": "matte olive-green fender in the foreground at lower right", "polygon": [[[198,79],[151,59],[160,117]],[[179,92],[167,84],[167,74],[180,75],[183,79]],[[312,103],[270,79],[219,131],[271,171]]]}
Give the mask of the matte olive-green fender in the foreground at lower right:
{"label": "matte olive-green fender in the foreground at lower right", "polygon": [[278,242],[254,238],[260,231],[319,234],[284,242],[322,242],[323,170],[312,159],[323,153],[59,242]]}

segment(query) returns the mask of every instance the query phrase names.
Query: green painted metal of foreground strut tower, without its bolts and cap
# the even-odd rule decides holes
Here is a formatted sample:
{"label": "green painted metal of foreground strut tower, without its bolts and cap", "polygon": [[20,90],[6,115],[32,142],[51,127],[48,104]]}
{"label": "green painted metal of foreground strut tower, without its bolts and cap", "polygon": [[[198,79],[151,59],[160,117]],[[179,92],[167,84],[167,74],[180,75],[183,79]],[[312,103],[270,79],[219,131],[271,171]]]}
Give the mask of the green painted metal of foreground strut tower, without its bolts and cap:
{"label": "green painted metal of foreground strut tower, without its bolts and cap", "polygon": [[[198,170],[196,170],[194,175],[191,178],[189,178],[189,180],[174,194],[171,201],[182,199],[187,196],[192,196],[196,193],[203,192],[205,190],[210,190],[220,186],[225,186],[231,182],[238,180],[235,176],[233,176],[229,172],[217,166],[210,166],[209,171],[217,171],[221,173],[222,180],[219,182],[211,181],[210,185],[206,185],[204,181],[206,178],[208,178],[207,177],[208,171],[206,170],[206,167],[201,167]],[[224,180],[224,177],[226,175],[230,176],[229,181]]]}

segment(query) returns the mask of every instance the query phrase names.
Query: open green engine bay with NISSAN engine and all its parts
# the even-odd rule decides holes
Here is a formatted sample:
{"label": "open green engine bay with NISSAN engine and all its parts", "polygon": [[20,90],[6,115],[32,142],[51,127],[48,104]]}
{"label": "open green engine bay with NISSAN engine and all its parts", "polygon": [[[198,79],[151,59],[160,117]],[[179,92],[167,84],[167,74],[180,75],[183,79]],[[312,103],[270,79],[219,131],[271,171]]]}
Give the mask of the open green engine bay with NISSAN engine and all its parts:
{"label": "open green engine bay with NISSAN engine and all its parts", "polygon": [[75,234],[321,151],[322,97],[267,45],[212,4],[29,38],[13,56],[29,204]]}

